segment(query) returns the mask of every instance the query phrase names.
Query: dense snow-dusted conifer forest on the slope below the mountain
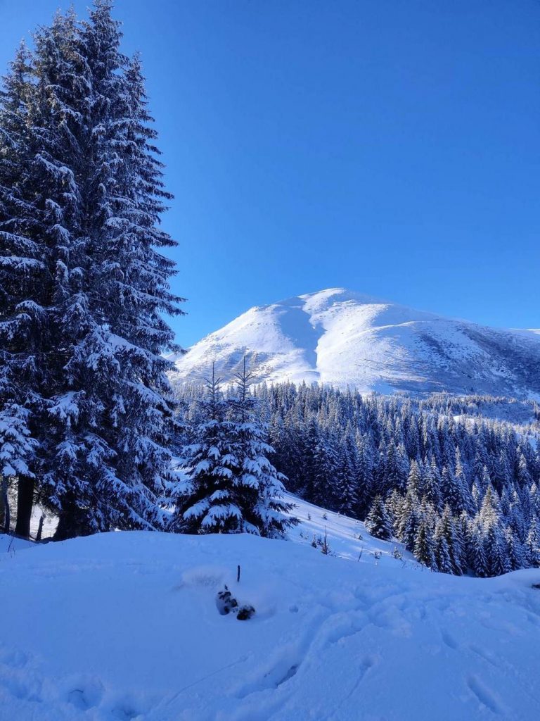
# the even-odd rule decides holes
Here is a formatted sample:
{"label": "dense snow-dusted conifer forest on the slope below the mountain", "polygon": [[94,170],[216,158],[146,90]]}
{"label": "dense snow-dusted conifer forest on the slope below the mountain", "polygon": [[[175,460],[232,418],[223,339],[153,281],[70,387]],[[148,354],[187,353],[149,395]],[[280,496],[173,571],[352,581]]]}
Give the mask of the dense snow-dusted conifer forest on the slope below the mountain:
{"label": "dense snow-dusted conifer forest on the slope below the mountain", "polygon": [[[200,428],[203,392],[177,391],[180,454]],[[365,520],[372,534],[399,539],[433,570],[492,576],[539,565],[535,404],[518,432],[477,415],[514,404],[505,399],[362,397],[277,384],[258,386],[253,400],[288,490]]]}

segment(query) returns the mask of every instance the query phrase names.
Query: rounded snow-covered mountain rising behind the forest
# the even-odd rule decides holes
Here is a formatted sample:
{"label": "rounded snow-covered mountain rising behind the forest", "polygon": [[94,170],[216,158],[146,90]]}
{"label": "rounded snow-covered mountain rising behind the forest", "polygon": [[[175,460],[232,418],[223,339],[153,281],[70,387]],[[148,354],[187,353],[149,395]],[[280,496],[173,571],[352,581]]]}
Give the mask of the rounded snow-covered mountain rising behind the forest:
{"label": "rounded snow-covered mountain rising behind the forest", "polygon": [[179,381],[228,381],[246,355],[256,381],[361,392],[540,396],[540,335],[417,311],[343,288],[251,308],[175,358]]}

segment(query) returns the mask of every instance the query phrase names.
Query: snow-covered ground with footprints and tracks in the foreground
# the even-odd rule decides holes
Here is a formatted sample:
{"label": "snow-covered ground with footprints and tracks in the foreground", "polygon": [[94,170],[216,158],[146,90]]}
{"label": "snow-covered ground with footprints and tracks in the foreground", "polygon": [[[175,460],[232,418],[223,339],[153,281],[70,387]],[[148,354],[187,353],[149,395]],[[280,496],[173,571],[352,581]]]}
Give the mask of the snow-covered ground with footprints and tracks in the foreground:
{"label": "snow-covered ground with footprints and tracks in the foreground", "polygon": [[[540,570],[440,575],[362,523],[296,513],[293,542],[3,539],[0,720],[540,717]],[[252,619],[217,612],[225,583]]]}

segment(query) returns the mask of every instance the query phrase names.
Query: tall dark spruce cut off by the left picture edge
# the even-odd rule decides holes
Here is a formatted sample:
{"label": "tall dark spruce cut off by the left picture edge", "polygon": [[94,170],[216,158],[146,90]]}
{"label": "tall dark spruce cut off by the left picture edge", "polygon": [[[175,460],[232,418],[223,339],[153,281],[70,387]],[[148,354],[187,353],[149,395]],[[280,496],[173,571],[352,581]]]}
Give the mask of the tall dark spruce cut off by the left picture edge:
{"label": "tall dark spruce cut off by the left picture edge", "polygon": [[[4,491],[8,482],[17,483],[15,530],[22,536],[30,534],[37,446],[32,433],[43,407],[40,351],[48,338],[48,247],[40,232],[32,107],[31,56],[22,45],[0,92],[0,474]],[[4,493],[9,523],[6,503]]]}

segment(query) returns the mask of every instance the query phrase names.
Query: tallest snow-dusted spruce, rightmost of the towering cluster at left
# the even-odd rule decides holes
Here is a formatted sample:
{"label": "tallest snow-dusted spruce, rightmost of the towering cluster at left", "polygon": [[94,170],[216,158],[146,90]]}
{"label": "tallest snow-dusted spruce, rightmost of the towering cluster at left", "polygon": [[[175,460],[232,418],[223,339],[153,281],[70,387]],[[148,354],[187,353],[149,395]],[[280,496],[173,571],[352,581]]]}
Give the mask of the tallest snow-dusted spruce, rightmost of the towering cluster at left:
{"label": "tallest snow-dusted spruce, rightmost of the towering cluster at left", "polygon": [[[78,109],[84,120],[78,242],[86,292],[75,289],[61,309],[59,324],[69,327],[76,315],[79,332],[66,363],[68,387],[54,410],[60,453],[67,441],[75,469],[82,467],[66,478],[55,476],[54,466],[47,477],[60,508],[60,537],[73,533],[78,516],[81,526],[90,523],[88,530],[160,528],[158,497],[172,479],[170,364],[161,351],[174,347],[174,336],[161,313],[178,313],[181,299],[168,288],[174,265],[159,252],[174,245],[159,229],[170,196],[140,65],[122,56],[120,37],[111,3],[98,0],[78,32],[90,91]],[[71,414],[63,412],[73,391],[75,424],[66,423]],[[88,482],[92,503],[81,509],[79,493]]]}

